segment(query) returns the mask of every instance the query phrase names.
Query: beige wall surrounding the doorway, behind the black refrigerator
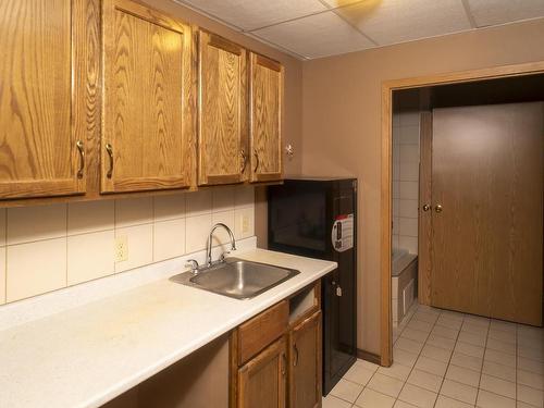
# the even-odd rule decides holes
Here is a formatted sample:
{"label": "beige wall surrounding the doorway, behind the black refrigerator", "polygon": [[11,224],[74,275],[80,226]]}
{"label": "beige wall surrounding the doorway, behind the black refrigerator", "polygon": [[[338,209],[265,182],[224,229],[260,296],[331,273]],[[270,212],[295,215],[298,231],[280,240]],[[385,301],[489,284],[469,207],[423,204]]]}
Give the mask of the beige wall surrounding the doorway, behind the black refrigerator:
{"label": "beige wall surrounding the doorway, behind the black refrigerator", "polygon": [[302,172],[359,178],[358,346],[380,353],[381,84],[544,60],[544,20],[306,62]]}

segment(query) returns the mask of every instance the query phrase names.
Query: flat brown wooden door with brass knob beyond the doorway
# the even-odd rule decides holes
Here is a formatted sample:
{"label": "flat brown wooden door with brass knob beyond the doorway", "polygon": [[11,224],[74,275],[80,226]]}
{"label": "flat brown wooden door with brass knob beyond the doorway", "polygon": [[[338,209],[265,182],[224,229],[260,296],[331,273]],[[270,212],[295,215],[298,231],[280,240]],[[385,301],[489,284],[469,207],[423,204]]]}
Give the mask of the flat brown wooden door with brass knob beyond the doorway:
{"label": "flat brown wooden door with brass knob beyond the doorway", "polygon": [[542,324],[543,116],[543,103],[434,110],[433,306]]}

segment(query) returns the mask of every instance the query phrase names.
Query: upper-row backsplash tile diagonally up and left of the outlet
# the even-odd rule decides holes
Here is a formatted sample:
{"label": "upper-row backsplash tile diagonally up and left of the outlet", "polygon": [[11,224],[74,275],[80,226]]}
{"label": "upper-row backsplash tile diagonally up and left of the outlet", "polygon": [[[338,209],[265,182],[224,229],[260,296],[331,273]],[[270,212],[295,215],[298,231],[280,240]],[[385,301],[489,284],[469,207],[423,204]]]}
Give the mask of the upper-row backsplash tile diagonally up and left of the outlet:
{"label": "upper-row backsplash tile diagonally up and left of the outlet", "polygon": [[71,202],[67,206],[67,234],[85,234],[113,230],[115,201]]}

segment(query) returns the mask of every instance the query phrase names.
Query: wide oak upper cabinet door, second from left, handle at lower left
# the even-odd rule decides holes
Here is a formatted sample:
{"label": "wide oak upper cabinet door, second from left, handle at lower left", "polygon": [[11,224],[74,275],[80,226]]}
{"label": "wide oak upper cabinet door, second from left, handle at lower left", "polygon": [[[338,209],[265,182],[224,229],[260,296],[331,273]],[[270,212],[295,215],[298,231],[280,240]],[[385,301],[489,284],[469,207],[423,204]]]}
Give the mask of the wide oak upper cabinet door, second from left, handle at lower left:
{"label": "wide oak upper cabinet door, second from left, handle at lower left", "polygon": [[190,27],[129,0],[103,1],[104,193],[189,187]]}

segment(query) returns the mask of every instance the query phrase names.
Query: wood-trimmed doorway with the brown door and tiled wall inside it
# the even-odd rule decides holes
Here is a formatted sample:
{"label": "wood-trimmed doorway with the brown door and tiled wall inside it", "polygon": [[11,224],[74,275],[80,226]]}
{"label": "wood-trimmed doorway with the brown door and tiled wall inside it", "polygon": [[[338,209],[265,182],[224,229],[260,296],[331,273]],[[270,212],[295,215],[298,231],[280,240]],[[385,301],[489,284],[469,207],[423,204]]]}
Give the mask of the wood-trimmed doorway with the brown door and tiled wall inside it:
{"label": "wood-trimmed doorway with the brown door and tiled wall inside it", "polygon": [[[392,228],[382,236],[382,262],[386,265],[385,273],[382,272],[382,295],[387,295],[386,306],[382,300],[382,336],[386,335],[382,337],[383,366],[392,362],[393,342],[399,334],[395,327],[403,326],[409,318],[410,306],[416,302],[542,324],[542,122],[534,124],[536,131],[531,131],[536,132],[539,140],[534,136],[523,139],[490,135],[496,134],[497,128],[524,126],[531,118],[542,121],[544,104],[539,101],[544,100],[543,71],[540,65],[517,66],[384,84],[384,120],[391,122],[384,123],[385,136],[390,138],[388,144],[384,139],[384,150],[388,150],[388,169],[384,174],[388,194],[382,197],[388,199],[390,217],[385,219]],[[526,113],[511,113],[512,110]],[[527,113],[528,110],[533,113]],[[491,127],[498,127],[490,131],[493,121],[495,125]],[[478,128],[479,123],[484,126]],[[461,127],[448,135],[453,125]],[[462,138],[472,140],[472,145],[461,143]],[[474,145],[474,141],[478,143]],[[524,165],[528,160],[523,160],[523,154],[531,156],[531,152],[537,162],[532,168]],[[472,188],[472,191],[452,194],[463,188]],[[506,189],[509,198],[497,198],[502,189]],[[530,200],[522,198],[533,190],[536,193],[531,207],[527,203]],[[471,212],[474,206],[475,212]],[[533,214],[532,223],[523,221],[527,210]],[[500,211],[506,211],[503,219]],[[507,227],[495,228],[502,222]],[[499,234],[485,235],[497,231],[507,235],[506,247],[495,245]],[[520,235],[530,238],[534,248],[530,245],[526,250]],[[478,249],[470,252],[471,248]],[[505,249],[510,254],[503,254]],[[527,252],[536,256],[527,256]],[[441,261],[443,259],[447,262]],[[481,272],[490,260],[495,261],[493,279]],[[504,267],[504,262],[510,264]],[[533,272],[521,273],[526,274],[524,281],[511,273],[502,275],[502,271],[520,268]],[[462,271],[469,269],[470,273],[463,276]],[[531,284],[536,285],[536,289]],[[523,306],[527,299],[530,300]],[[510,312],[512,306],[515,313]]]}

